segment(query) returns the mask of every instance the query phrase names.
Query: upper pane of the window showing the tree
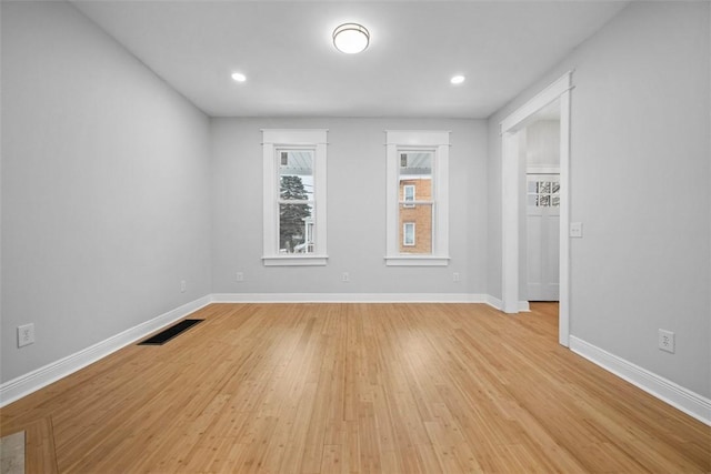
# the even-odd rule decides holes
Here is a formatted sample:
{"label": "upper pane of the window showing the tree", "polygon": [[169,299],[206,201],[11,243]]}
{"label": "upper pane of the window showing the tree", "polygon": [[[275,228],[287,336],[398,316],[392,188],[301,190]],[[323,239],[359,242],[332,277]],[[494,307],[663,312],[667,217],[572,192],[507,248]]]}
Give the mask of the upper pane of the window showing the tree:
{"label": "upper pane of the window showing the tree", "polygon": [[313,201],[313,150],[280,150],[280,199]]}

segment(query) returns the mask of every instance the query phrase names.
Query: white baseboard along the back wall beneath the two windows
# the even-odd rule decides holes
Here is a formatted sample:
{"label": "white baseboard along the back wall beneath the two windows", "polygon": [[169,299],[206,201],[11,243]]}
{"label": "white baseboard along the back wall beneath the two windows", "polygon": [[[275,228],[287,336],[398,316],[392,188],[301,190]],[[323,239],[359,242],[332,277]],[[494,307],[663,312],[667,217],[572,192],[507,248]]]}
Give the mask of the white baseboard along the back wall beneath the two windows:
{"label": "white baseboard along the back wall beneath the two windows", "polygon": [[477,293],[216,293],[214,303],[488,303]]}

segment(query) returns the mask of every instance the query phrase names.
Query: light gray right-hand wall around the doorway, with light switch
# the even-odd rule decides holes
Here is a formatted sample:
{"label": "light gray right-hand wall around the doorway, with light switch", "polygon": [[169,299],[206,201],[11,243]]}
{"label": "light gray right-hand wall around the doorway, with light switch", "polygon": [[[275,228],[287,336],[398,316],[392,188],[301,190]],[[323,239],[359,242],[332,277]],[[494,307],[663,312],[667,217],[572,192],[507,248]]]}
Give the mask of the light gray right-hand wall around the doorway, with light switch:
{"label": "light gray right-hand wall around the doorway, with light switch", "polygon": [[[634,2],[489,120],[489,283],[501,295],[499,122],[574,69],[571,334],[711,395],[708,2]],[[677,353],[657,349],[658,329]]]}

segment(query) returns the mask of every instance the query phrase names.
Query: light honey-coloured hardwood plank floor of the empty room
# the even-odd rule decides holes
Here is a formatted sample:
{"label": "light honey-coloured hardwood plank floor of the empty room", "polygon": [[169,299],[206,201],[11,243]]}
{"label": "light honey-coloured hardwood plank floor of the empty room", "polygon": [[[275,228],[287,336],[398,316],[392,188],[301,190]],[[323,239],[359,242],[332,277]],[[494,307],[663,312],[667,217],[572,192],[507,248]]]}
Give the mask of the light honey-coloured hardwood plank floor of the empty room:
{"label": "light honey-coloured hardwood plank floor of the empty room", "polygon": [[28,472],[710,472],[711,427],[558,345],[555,314],[212,304],[3,407],[1,432],[40,426],[54,453]]}

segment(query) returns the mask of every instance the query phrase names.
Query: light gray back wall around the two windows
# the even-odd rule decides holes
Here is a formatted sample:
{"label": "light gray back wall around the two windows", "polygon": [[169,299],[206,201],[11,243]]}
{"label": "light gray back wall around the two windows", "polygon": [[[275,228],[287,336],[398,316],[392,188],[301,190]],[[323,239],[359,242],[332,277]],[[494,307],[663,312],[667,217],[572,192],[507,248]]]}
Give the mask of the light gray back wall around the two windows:
{"label": "light gray back wall around the two windows", "polygon": [[[264,268],[263,128],[328,133],[327,266]],[[447,268],[387,268],[384,130],[451,130]],[[216,293],[484,293],[487,194],[483,120],[212,119],[212,281]],[[244,281],[236,281],[243,272]],[[350,282],[341,281],[349,272]],[[452,281],[452,273],[461,282]]]}

